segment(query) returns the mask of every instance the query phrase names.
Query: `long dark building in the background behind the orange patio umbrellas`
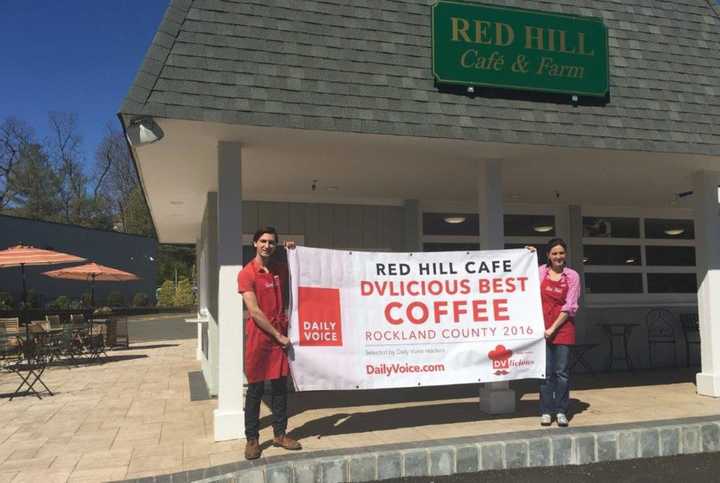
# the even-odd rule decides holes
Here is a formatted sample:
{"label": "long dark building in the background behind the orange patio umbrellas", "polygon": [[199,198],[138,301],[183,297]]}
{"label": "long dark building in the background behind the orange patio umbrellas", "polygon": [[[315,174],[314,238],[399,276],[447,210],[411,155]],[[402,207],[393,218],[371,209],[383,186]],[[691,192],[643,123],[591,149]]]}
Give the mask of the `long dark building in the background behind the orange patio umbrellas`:
{"label": "long dark building in the background behind the orange patio umbrellas", "polygon": [[[147,295],[151,303],[155,300],[157,240],[153,238],[0,215],[0,247],[15,245],[31,245],[71,253],[140,277],[140,280],[133,282],[96,283],[95,299],[99,303],[107,300],[111,292],[122,294],[127,304],[132,302],[137,293]],[[25,267],[27,287],[37,293],[39,302],[44,305],[60,296],[79,300],[84,293],[90,292],[89,282],[61,280],[42,275],[43,272],[59,267]],[[0,270],[0,292],[11,294],[16,301],[22,298],[18,269]]]}

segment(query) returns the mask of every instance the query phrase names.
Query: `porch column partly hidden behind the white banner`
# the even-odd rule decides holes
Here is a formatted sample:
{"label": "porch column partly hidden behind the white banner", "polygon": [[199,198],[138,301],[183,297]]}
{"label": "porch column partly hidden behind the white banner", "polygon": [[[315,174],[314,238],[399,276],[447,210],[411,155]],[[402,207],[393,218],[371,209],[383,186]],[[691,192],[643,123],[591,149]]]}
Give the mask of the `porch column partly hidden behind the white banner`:
{"label": "porch column partly hidden behind the white banner", "polygon": [[[505,247],[505,230],[500,160],[481,161],[479,167],[480,249],[501,250]],[[491,382],[482,385],[480,387],[480,410],[488,414],[515,412],[515,391],[510,389],[507,382]]]}

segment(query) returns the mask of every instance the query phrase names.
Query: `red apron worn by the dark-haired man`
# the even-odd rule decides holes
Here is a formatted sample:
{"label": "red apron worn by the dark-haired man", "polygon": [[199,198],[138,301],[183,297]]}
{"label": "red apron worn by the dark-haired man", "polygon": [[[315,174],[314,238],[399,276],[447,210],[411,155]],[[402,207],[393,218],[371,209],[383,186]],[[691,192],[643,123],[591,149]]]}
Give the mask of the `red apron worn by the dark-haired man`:
{"label": "red apron worn by the dark-haired man", "polygon": [[[280,277],[273,273],[255,272],[255,297],[273,327],[286,336],[288,320],[283,307]],[[287,376],[288,372],[285,350],[258,327],[252,317],[248,317],[245,322],[245,375],[248,383],[277,379]]]}

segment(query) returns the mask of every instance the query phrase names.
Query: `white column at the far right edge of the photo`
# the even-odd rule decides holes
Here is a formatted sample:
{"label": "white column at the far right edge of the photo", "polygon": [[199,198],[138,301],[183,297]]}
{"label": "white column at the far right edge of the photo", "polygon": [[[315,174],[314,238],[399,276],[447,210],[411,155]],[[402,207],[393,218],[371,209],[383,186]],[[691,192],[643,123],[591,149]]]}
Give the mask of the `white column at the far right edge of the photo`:
{"label": "white column at the far right edge of the photo", "polygon": [[720,397],[720,172],[693,176],[701,372],[697,392]]}

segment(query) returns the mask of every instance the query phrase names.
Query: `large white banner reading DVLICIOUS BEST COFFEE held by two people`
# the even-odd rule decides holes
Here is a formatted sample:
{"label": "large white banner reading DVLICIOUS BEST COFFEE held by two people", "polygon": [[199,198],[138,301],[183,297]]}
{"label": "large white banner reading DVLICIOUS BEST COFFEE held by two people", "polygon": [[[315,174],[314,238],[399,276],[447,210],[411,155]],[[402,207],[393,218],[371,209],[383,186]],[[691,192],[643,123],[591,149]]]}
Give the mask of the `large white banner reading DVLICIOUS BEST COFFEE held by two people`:
{"label": "large white banner reading DVLICIOUS BEST COFFEE held by two people", "polygon": [[525,249],[288,250],[299,390],[544,378],[537,255]]}

